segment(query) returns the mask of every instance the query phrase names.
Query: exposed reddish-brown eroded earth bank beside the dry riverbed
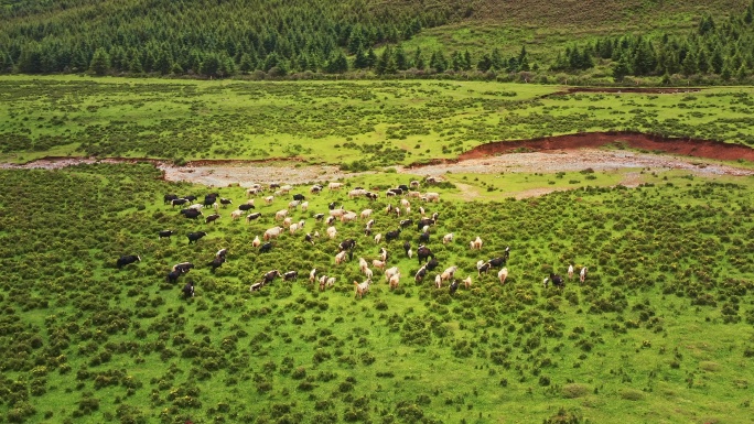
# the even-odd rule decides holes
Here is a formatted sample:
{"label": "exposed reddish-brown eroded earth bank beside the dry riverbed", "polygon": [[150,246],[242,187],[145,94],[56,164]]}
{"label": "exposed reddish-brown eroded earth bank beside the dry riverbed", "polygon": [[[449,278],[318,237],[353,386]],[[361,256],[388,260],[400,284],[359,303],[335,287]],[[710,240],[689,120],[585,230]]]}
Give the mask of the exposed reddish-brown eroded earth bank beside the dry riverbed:
{"label": "exposed reddish-brown eroded earth bank beside the dry riverbed", "polygon": [[694,157],[735,161],[743,159],[754,162],[754,149],[741,144],[696,139],[669,139],[639,132],[589,132],[568,135],[543,137],[532,140],[497,141],[482,144],[462,153],[459,159],[476,159],[521,150],[571,150],[601,148],[618,143],[632,149],[659,151]]}

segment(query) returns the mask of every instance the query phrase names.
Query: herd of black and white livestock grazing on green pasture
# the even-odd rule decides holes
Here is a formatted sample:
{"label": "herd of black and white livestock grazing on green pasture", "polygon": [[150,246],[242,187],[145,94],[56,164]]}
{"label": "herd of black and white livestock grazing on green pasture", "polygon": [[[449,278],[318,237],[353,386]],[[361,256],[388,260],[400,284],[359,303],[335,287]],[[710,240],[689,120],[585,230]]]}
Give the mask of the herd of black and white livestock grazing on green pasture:
{"label": "herd of black and white livestock grazing on green pasture", "polygon": [[[365,237],[370,237],[370,239],[373,239],[376,244],[379,244],[383,241],[383,239],[389,243],[392,240],[397,240],[400,237],[401,231],[414,225],[414,220],[411,218],[411,198],[418,198],[426,203],[439,202],[440,195],[438,193],[430,192],[421,194],[420,192],[416,191],[419,187],[419,185],[420,183],[418,181],[412,181],[409,185],[399,185],[398,187],[390,188],[385,192],[385,196],[388,199],[400,197],[400,200],[398,206],[388,204],[388,206],[385,208],[385,213],[388,216],[397,217],[398,228],[392,231],[386,232],[384,238],[381,233],[375,235],[374,238],[370,237],[373,226],[375,224],[375,219],[371,218],[371,215],[374,213],[373,209],[364,209],[360,214],[356,214],[354,211],[346,210],[345,208],[343,208],[343,206],[337,207],[336,203],[333,202],[328,205],[328,214],[313,214],[312,217],[320,224],[324,224],[324,232],[330,239],[335,239],[337,237],[337,229],[335,227],[336,221],[340,220],[342,224],[345,224],[356,221],[358,218],[360,218],[367,221],[364,228]],[[342,189],[343,185],[342,183],[330,183],[327,188],[331,192],[335,192]],[[293,189],[293,187],[291,185],[270,184],[268,189],[272,191],[273,193],[271,195],[263,197],[263,200],[266,205],[271,205],[276,198],[290,195],[290,192]],[[324,187],[322,185],[313,185],[309,192],[310,194],[319,195],[323,189]],[[263,195],[265,193],[266,189],[260,184],[255,184],[246,191],[247,197],[251,197],[255,195]],[[369,200],[375,200],[378,198],[378,195],[376,193],[366,191],[362,187],[356,187],[348,192],[349,199],[354,199],[357,197],[365,197]],[[203,202],[201,203],[194,203],[196,199],[196,196],[179,197],[175,194],[168,194],[164,196],[164,204],[170,205],[171,207],[190,205],[188,207],[180,210],[180,214],[187,219],[197,219],[200,216],[204,216],[204,209],[212,209],[213,214],[205,217],[206,224],[215,222],[217,219],[220,218],[219,209],[227,208],[228,205],[234,204],[231,199],[219,197],[217,193],[211,193],[205,195]],[[273,215],[276,225],[274,227],[269,228],[263,232],[263,242],[259,239],[259,236],[257,236],[254,239],[254,248],[257,248],[260,253],[269,252],[276,246],[272,240],[278,239],[286,231],[286,229],[288,229],[288,231],[291,235],[295,235],[297,232],[302,231],[305,226],[305,220],[294,222],[293,219],[288,215],[289,211],[292,209],[300,209],[301,211],[306,211],[308,208],[309,203],[306,202],[304,195],[292,195],[292,199],[288,203],[288,207],[286,209],[278,210]],[[238,206],[238,209],[230,213],[230,218],[231,220],[237,220],[245,213],[251,209],[256,209],[254,198],[247,199],[245,203],[240,204]],[[424,280],[424,278],[429,275],[429,273],[435,271],[435,269],[438,269],[438,267],[440,265],[440,262],[434,258],[434,254],[432,253],[431,249],[427,246],[427,243],[429,243],[430,241],[430,228],[438,224],[440,219],[440,214],[435,211],[430,215],[423,206],[420,206],[418,210],[414,210],[414,213],[417,211],[420,216],[420,218],[418,218],[416,221],[416,228],[419,231],[420,244],[417,247],[416,256],[421,267],[419,268],[419,271],[417,271],[413,275],[413,281],[420,283]],[[401,219],[401,215],[406,216],[406,218]],[[250,213],[246,215],[246,221],[250,222],[252,220],[259,219],[261,216],[261,213]],[[159,239],[170,238],[175,233],[176,231],[173,230],[162,230],[159,231],[158,237]],[[188,239],[188,244],[196,243],[206,235],[206,231],[188,232],[186,235]],[[314,240],[317,239],[321,235],[319,230],[315,230],[314,232],[306,232],[303,237],[303,241],[305,243],[314,244]],[[452,232],[445,235],[442,238],[443,244],[451,243],[453,242],[453,240],[454,235]],[[335,264],[340,265],[346,261],[353,260],[354,250],[356,246],[357,241],[355,239],[346,239],[338,243],[338,252],[334,258]],[[476,237],[474,240],[470,242],[468,246],[472,250],[482,250],[483,240],[481,237]],[[405,241],[402,248],[405,254],[408,258],[413,258],[414,252],[410,241]],[[499,257],[495,257],[486,261],[480,260],[476,263],[477,276],[481,278],[483,274],[487,274],[489,271],[496,270],[497,279],[499,280],[500,284],[505,284],[505,281],[508,278],[508,269],[506,268],[506,263],[508,261],[509,254],[510,248],[506,247]],[[223,263],[225,263],[226,256],[226,249],[219,250],[215,254],[212,262],[207,264],[207,268],[211,268],[211,271],[214,273],[217,268],[220,268]],[[386,282],[388,283],[390,290],[397,289],[399,286],[401,279],[400,271],[397,267],[387,268],[388,257],[388,250],[385,247],[381,247],[379,258],[374,259],[371,263],[369,263],[364,258],[358,259],[359,272],[365,275],[366,280],[360,283],[358,281],[354,281],[355,293],[357,297],[360,298],[362,296],[364,296],[364,294],[366,294],[369,291],[369,286],[373,284],[374,272],[369,268],[370,265],[384,272]],[[141,257],[139,256],[123,256],[117,260],[116,265],[120,269],[139,261],[141,261]],[[181,275],[188,273],[190,270],[193,268],[194,264],[191,262],[182,262],[175,264],[168,273],[166,280],[171,283],[175,283],[179,281],[179,278]],[[461,284],[463,284],[466,289],[471,287],[471,275],[466,276],[463,280],[459,280],[455,278],[457,269],[457,267],[453,265],[446,268],[442,272],[438,272],[434,278],[434,285],[438,289],[441,289],[444,283],[448,283],[448,287],[451,295],[457,291]],[[573,276],[573,265],[570,265],[568,271],[569,278]],[[251,284],[249,290],[252,292],[261,290],[265,285],[270,284],[272,281],[274,281],[276,278],[281,278],[284,281],[294,281],[295,279],[298,279],[298,271],[289,271],[286,273],[281,273],[279,270],[271,270],[265,273],[265,275],[262,275],[259,282]],[[580,280],[583,282],[585,276],[586,268],[584,267],[581,270]],[[337,279],[336,276],[327,274],[317,274],[317,269],[314,268],[309,273],[309,281],[314,284],[319,283],[320,290],[324,291],[327,287],[334,286]],[[548,278],[543,280],[543,285],[547,287],[548,283],[550,282],[558,287],[564,286],[564,280],[560,275],[557,275],[554,273],[551,273]],[[186,297],[193,297],[194,283],[192,281],[188,281],[183,286],[183,294]]]}

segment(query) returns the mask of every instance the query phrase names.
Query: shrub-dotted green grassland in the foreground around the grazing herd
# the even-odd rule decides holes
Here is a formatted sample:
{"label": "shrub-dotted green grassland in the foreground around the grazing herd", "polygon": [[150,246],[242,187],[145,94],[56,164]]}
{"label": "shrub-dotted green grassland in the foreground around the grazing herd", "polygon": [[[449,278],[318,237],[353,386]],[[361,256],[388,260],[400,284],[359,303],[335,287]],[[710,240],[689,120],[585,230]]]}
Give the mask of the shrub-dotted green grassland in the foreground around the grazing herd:
{"label": "shrub-dotted green grassland in the foreground around the grazing herd", "polygon": [[[635,189],[422,205],[440,214],[429,243],[440,269],[459,265],[472,289],[451,296],[432,286],[434,273],[413,282],[418,264],[400,248],[416,249],[412,226],[383,243],[400,287],[376,279],[355,300],[356,258],[378,251],[363,222],[338,222],[335,240],[314,246],[287,232],[261,254],[251,240],[289,197],[258,202],[259,221],[231,221],[228,208],[205,225],[162,195],[209,188],[165,183],[149,164],[0,171],[0,422],[750,422],[754,182],[666,176]],[[346,184],[384,188],[400,176],[363,177],[375,180]],[[539,176],[503,178],[514,177]],[[422,191],[444,198],[448,187]],[[240,187],[212,191],[246,199]],[[375,232],[398,227],[384,198],[309,197],[310,211],[292,213],[305,231],[324,233],[311,215],[330,202],[375,209]],[[177,235],[158,240],[162,229]],[[195,230],[208,236],[188,246]],[[441,242],[446,232],[453,243]],[[481,252],[468,250],[476,236]],[[336,267],[337,243],[352,237],[354,261]],[[474,263],[506,246],[506,284],[477,278]],[[213,274],[206,263],[220,248],[228,262]],[[122,254],[142,261],[117,270]],[[197,267],[166,283],[182,261]],[[569,263],[589,267],[584,284],[542,287]],[[313,267],[335,287],[308,284]],[[302,276],[249,293],[272,269]],[[196,282],[188,301],[186,279]]]}

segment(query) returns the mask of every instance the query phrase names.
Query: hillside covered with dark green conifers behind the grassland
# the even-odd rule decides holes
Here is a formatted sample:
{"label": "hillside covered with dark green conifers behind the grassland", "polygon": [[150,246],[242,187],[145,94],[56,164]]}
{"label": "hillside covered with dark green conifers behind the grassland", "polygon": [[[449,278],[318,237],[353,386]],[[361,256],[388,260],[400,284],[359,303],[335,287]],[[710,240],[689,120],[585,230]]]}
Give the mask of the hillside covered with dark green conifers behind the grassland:
{"label": "hillside covered with dark green conifers behind the grassland", "polygon": [[0,73],[746,83],[746,0],[2,0]]}

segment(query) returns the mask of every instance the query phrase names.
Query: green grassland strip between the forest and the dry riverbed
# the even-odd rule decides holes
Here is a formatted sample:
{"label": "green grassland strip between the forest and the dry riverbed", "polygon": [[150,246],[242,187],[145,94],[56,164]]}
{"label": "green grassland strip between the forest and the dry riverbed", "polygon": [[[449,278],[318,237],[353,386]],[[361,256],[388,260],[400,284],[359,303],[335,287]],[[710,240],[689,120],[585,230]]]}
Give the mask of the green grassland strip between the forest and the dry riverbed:
{"label": "green grassland strip between the forest and the dry riverbed", "polygon": [[0,157],[301,157],[362,171],[455,157],[491,141],[585,131],[754,145],[750,87],[548,96],[562,89],[482,81],[2,77]]}

